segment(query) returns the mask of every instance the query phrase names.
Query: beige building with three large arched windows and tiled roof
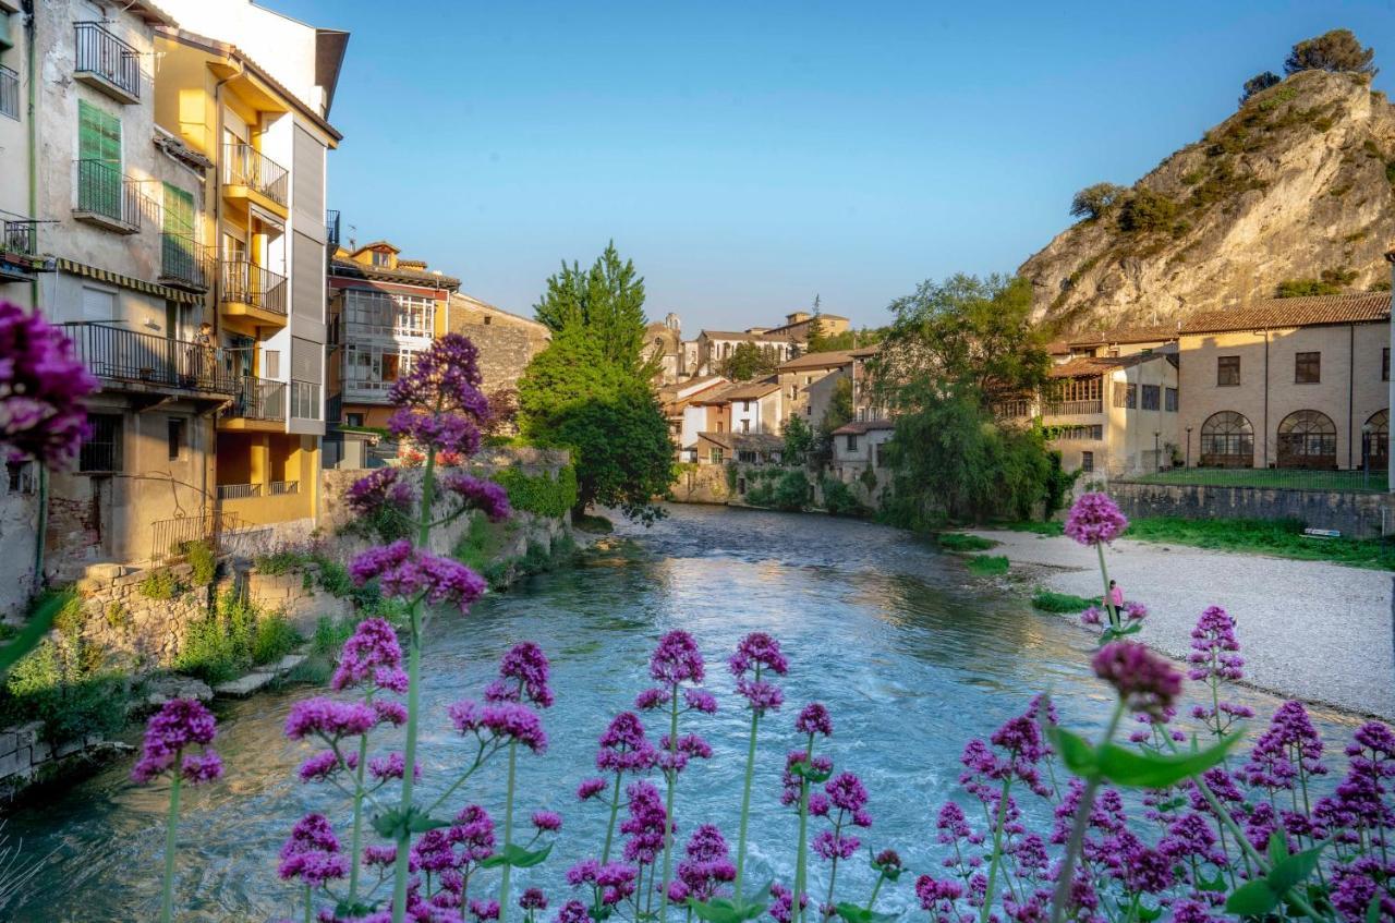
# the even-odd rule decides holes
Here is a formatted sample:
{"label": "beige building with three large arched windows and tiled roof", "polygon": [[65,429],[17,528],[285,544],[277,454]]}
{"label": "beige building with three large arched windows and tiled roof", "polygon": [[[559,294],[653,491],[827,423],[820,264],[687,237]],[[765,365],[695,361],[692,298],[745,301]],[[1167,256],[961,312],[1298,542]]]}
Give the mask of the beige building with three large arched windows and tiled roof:
{"label": "beige building with three large arched windows and tiled roof", "polygon": [[1389,293],[1278,298],[1183,322],[1187,464],[1385,468]]}

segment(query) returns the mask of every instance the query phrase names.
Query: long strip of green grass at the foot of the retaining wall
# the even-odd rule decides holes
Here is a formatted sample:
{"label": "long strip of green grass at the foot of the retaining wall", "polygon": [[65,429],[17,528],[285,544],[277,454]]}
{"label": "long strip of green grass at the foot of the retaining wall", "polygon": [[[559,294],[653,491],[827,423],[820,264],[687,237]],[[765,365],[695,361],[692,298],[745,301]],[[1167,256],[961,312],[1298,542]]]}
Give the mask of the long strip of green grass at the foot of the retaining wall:
{"label": "long strip of green grass at the foot of the retaining wall", "polygon": [[1182,519],[1155,516],[1129,524],[1127,538],[1191,548],[1242,551],[1353,567],[1395,570],[1395,544],[1378,538],[1309,538],[1297,520]]}

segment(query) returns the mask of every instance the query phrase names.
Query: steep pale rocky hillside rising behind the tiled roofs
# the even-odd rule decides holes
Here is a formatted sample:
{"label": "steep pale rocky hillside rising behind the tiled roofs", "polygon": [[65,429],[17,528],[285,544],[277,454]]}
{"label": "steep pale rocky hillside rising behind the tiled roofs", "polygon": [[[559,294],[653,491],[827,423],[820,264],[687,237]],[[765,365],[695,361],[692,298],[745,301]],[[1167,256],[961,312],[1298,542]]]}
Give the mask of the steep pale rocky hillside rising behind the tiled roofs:
{"label": "steep pale rocky hillside rising behind the tiled roofs", "polygon": [[[1395,106],[1356,74],[1250,98],[1018,270],[1060,332],[1170,323],[1246,300],[1384,286]],[[1285,284],[1288,283],[1288,284]]]}

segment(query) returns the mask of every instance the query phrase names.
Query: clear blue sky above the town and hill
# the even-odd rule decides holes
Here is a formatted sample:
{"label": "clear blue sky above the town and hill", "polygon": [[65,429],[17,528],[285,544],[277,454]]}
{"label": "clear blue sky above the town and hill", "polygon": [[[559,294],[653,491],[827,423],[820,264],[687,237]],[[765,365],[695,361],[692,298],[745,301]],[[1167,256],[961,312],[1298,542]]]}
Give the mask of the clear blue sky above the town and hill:
{"label": "clear blue sky above the town and hill", "polygon": [[686,335],[1013,272],[1299,39],[1350,28],[1395,74],[1395,0],[262,1],[353,33],[329,204],[360,243],[530,314],[614,237]]}

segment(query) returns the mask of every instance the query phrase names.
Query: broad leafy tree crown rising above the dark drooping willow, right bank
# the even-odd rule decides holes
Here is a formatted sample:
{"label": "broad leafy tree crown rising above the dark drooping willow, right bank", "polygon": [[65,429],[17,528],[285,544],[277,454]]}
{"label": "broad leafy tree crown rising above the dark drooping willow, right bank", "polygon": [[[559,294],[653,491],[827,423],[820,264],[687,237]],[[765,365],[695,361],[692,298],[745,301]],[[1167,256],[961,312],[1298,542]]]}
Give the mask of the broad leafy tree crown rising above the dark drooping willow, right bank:
{"label": "broad leafy tree crown rising above the dark drooping willow, right bank", "polygon": [[891,303],[896,319],[869,363],[875,403],[905,407],[917,392],[904,386],[928,379],[971,383],[985,407],[1046,381],[1050,357],[1032,325],[1032,291],[1025,279],[956,275],[925,280],[914,294]]}

